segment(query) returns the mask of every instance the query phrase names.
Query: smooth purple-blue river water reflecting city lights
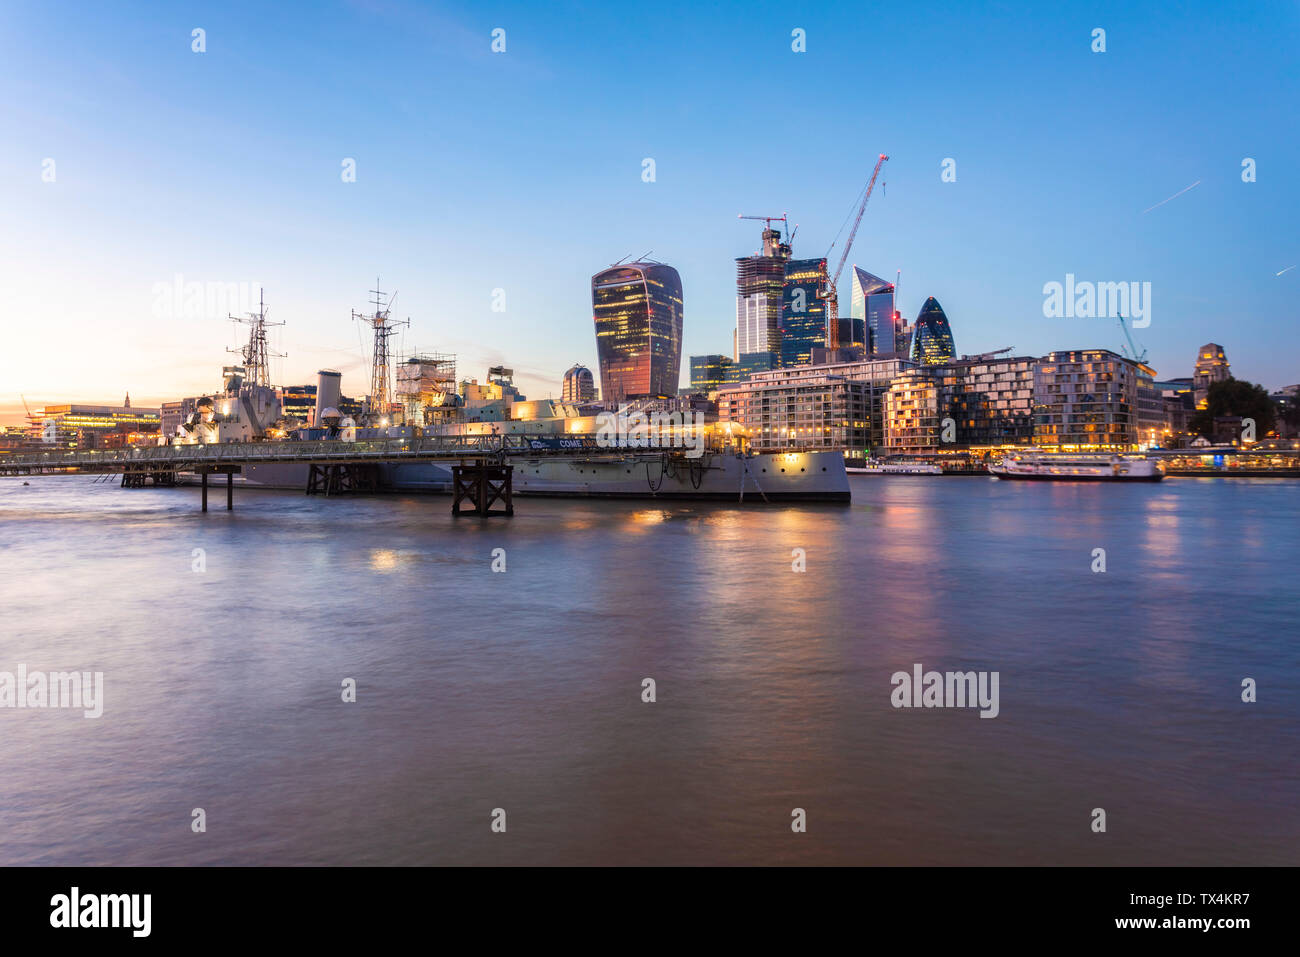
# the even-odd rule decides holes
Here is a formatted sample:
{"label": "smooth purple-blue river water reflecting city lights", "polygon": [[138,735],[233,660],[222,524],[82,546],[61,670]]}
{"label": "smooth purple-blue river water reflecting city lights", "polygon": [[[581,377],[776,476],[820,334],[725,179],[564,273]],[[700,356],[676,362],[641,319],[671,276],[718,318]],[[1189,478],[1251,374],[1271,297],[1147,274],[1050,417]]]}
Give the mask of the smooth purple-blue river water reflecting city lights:
{"label": "smooth purple-blue river water reflecting city lights", "polygon": [[0,478],[0,865],[1300,863],[1297,481],[220,492]]}

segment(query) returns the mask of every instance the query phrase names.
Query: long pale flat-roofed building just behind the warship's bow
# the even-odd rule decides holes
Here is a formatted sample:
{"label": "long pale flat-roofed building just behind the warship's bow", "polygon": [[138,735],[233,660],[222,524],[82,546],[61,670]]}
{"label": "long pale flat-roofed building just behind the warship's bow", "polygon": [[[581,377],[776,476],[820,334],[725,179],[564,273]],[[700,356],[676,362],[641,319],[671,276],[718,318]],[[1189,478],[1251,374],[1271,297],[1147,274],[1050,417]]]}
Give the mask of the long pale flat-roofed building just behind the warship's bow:
{"label": "long pale flat-roofed building just behind the warship's bow", "polygon": [[833,449],[864,456],[884,443],[885,397],[906,359],[862,359],[755,372],[718,393],[718,419],[755,450]]}

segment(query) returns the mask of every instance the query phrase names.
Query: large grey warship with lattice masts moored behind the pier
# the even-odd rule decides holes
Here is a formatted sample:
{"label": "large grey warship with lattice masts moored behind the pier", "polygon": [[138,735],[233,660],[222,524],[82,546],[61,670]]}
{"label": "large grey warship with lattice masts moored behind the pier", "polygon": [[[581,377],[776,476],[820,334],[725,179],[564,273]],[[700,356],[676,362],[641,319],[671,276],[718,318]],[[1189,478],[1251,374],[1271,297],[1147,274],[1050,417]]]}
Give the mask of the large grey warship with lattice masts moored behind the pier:
{"label": "large grey warship with lattice masts moored behind the pier", "polygon": [[[380,309],[380,306],[376,307]],[[707,421],[688,404],[656,400],[620,404],[618,411],[558,399],[528,400],[514,371],[494,365],[485,382],[456,381],[454,360],[412,356],[398,372],[396,398],[372,403],[360,421],[344,416],[339,376],[322,371],[316,408],[306,421],[286,413],[278,390],[263,385],[264,312],[244,348],[244,367],[224,369],[224,387],[191,400],[195,412],[162,441],[177,445],[225,442],[343,443],[419,441],[425,437],[500,437],[500,460],[512,465],[516,495],[582,498],[712,499],[727,502],[849,502],[852,492],[838,451],[753,450],[727,424]],[[394,404],[404,421],[391,423]],[[716,417],[716,416],[715,416]],[[506,439],[510,439],[508,442]],[[555,454],[567,452],[567,454]],[[376,462],[374,486],[399,492],[452,493],[451,463]],[[181,473],[178,484],[202,481]],[[244,465],[233,484],[247,488],[307,489],[311,465]]]}

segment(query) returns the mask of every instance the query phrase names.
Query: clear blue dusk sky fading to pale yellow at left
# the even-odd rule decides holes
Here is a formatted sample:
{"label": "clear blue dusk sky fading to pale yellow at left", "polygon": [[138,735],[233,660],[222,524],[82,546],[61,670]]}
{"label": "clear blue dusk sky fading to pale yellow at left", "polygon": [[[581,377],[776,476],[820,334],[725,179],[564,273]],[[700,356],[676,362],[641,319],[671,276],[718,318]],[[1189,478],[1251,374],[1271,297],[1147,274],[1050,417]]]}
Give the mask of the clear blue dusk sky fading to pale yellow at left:
{"label": "clear blue dusk sky fading to pale yellow at left", "polygon": [[8,0],[0,91],[0,421],[218,387],[259,286],[273,380],[360,395],[377,280],[396,351],[558,395],[597,368],[592,274],[642,254],[681,274],[685,382],[732,347],[737,215],[827,255],[880,153],[844,313],[857,264],[902,270],[909,319],[936,296],[958,352],[1119,351],[1044,286],[1149,282],[1160,376],[1217,342],[1300,382],[1294,1]]}

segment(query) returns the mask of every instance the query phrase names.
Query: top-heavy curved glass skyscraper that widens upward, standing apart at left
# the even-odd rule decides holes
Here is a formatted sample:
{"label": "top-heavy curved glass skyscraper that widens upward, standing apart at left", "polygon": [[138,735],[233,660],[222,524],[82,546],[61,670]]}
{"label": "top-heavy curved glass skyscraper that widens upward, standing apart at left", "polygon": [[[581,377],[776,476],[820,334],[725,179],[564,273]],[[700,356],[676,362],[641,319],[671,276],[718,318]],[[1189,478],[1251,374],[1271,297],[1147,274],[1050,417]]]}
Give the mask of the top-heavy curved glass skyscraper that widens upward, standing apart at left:
{"label": "top-heavy curved glass skyscraper that widens upward, standing apart at left", "polygon": [[681,371],[681,277],[641,260],[592,277],[601,397],[606,402],[676,395]]}

